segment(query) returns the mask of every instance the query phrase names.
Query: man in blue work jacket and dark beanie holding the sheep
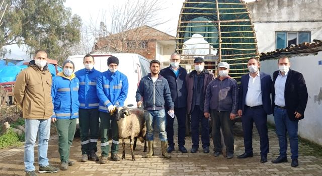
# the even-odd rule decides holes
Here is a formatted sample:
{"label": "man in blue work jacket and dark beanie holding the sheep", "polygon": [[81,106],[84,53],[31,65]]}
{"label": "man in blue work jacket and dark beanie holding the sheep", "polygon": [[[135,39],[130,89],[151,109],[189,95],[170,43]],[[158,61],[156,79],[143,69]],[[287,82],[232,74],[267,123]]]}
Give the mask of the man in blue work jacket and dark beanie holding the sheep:
{"label": "man in blue work jacket and dark beanie holding the sheep", "polygon": [[[101,118],[101,164],[106,163],[109,152],[108,130],[112,128],[111,159],[119,161],[119,134],[116,119],[112,118],[115,107],[123,106],[128,92],[128,80],[125,74],[117,70],[119,59],[111,56],[107,59],[109,69],[104,71],[97,79],[97,96],[100,99]],[[111,124],[112,123],[112,124]]]}

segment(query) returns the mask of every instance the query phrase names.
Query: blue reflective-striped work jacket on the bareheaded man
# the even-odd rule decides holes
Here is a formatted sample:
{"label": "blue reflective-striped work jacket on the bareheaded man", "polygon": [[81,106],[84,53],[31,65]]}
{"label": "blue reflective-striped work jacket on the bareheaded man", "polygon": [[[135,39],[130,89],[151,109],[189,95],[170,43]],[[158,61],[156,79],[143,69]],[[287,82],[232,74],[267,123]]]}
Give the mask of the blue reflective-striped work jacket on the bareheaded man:
{"label": "blue reflective-striped work jacket on the bareheaded man", "polygon": [[94,109],[99,107],[100,100],[96,94],[97,78],[102,74],[96,69],[86,68],[75,72],[79,79],[78,101],[81,109]]}

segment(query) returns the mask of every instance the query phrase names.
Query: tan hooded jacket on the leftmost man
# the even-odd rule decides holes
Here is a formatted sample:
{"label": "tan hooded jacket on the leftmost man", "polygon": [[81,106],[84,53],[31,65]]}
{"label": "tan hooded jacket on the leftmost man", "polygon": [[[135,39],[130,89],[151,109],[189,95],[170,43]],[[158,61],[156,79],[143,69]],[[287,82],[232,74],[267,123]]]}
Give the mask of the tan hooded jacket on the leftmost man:
{"label": "tan hooded jacket on the leftmost man", "polygon": [[14,97],[23,108],[25,119],[49,119],[52,116],[51,82],[48,66],[40,70],[34,60],[18,74]]}

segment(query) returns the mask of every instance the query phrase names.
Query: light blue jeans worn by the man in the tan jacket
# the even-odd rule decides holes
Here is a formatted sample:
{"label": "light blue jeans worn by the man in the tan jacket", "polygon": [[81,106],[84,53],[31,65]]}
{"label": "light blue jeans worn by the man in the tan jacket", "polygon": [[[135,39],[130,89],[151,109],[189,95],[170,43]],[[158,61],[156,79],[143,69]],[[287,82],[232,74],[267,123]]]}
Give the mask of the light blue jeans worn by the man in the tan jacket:
{"label": "light blue jeans worn by the man in the tan jacket", "polygon": [[38,162],[40,166],[49,165],[47,158],[50,134],[50,118],[47,120],[25,119],[25,171],[35,170],[34,146],[38,134]]}

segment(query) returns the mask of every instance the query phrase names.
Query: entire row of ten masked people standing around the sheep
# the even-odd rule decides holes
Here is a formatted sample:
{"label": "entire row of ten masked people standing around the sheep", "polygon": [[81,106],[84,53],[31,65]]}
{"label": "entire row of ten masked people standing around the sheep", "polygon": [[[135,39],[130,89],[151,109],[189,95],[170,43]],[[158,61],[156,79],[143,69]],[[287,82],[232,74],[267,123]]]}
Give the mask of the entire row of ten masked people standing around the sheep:
{"label": "entire row of ten masked people standing around the sheep", "polygon": [[[63,71],[52,78],[46,50],[37,50],[28,68],[17,77],[14,96],[23,108],[25,118],[25,171],[36,175],[34,166],[34,145],[38,136],[39,172],[57,172],[47,158],[50,121],[56,124],[60,169],[67,170],[74,162],[69,160],[69,149],[79,118],[81,132],[82,162],[108,160],[109,130],[112,130],[111,160],[119,161],[118,125],[112,118],[115,108],[123,106],[128,92],[128,80],[118,71],[119,60],[111,56],[109,69],[100,72],[94,68],[91,54],[84,57],[84,67],[74,73],[74,63],[65,61]],[[260,72],[256,58],[248,60],[249,74],[241,77],[240,85],[229,74],[229,64],[218,64],[218,77],[204,68],[201,57],[194,59],[194,70],[187,73],[180,66],[181,56],[171,55],[171,65],[160,70],[160,62],[150,62],[150,73],[141,78],[136,92],[137,107],[143,105],[146,121],[146,140],[150,158],[153,154],[154,125],[158,128],[162,155],[171,158],[175,150],[174,118],[178,121],[178,150],[185,148],[186,114],[191,121],[191,153],[199,148],[199,124],[204,153],[209,153],[209,118],[212,122],[212,136],[215,157],[222,154],[220,131],[224,136],[226,157],[233,158],[233,120],[241,117],[244,132],[245,153],[237,158],[253,156],[253,123],[260,134],[261,162],[267,162],[269,140],[267,115],[274,114],[276,133],[279,138],[280,155],[273,163],[287,162],[286,133],[289,134],[292,153],[291,165],[298,165],[298,120],[304,118],[307,90],[303,75],[289,69],[288,57],[278,60],[279,70],[271,76]],[[271,97],[272,95],[272,102]],[[51,119],[51,120],[50,120]],[[101,124],[101,125],[99,125]],[[101,135],[101,157],[96,155],[97,142]],[[220,130],[221,129],[221,130]]]}

